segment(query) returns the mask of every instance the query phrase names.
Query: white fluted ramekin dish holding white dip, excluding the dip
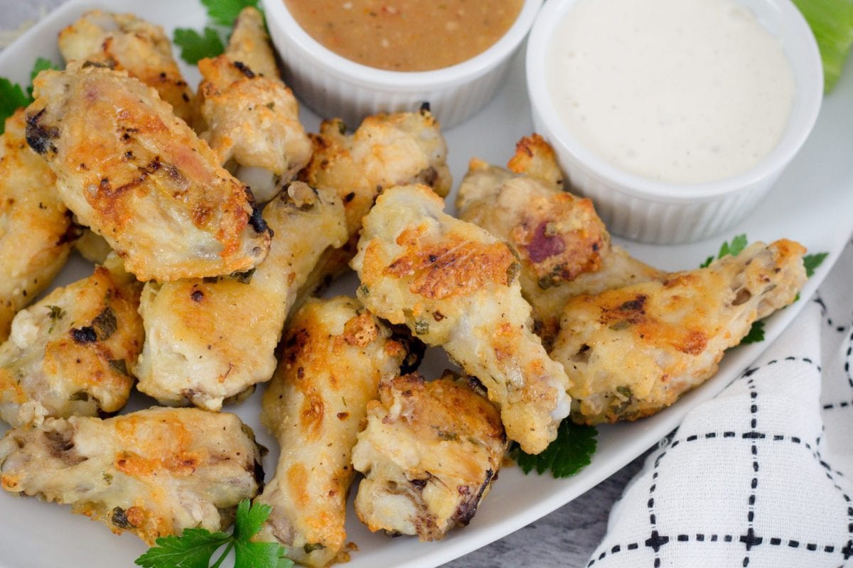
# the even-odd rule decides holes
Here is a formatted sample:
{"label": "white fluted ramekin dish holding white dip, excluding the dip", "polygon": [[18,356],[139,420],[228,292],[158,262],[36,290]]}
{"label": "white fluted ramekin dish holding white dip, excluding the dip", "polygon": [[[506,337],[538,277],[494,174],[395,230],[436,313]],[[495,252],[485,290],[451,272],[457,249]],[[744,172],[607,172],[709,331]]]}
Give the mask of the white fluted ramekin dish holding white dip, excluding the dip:
{"label": "white fluted ramekin dish holding white dip, excluding the dip", "polygon": [[738,0],[778,37],[791,61],[796,93],[779,143],[740,175],[700,184],[674,184],[629,174],[584,147],[560,120],[545,81],[548,46],[577,0],[549,0],[527,43],[527,89],[533,123],[554,146],[577,192],[595,203],[609,230],[648,243],[676,244],[734,227],[769,191],[815,124],[823,95],[821,56],[808,24],[789,0]]}

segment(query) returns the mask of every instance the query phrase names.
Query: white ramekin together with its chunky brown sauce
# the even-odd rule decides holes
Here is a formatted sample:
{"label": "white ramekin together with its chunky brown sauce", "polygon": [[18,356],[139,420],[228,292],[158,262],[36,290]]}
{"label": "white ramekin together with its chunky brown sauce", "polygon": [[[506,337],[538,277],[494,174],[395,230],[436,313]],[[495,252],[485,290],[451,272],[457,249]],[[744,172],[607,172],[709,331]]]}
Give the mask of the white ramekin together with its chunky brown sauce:
{"label": "white ramekin together with its chunky brown sauce", "polygon": [[428,102],[448,128],[496,93],[543,0],[263,0],[294,93],[357,125]]}

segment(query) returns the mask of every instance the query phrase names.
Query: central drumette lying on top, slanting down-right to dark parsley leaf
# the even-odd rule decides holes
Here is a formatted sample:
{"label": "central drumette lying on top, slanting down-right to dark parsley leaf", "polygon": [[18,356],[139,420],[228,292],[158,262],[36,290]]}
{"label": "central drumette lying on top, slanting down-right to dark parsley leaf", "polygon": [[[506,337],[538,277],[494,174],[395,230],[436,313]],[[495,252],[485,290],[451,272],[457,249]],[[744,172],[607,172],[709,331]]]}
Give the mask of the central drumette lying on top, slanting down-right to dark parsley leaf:
{"label": "central drumette lying on top, slanting down-right to dark parsley leaf", "polygon": [[501,407],[507,434],[528,453],[556,437],[569,380],[528,329],[514,249],[443,212],[427,186],[386,190],[364,217],[352,267],[358,298],[392,324],[444,347]]}

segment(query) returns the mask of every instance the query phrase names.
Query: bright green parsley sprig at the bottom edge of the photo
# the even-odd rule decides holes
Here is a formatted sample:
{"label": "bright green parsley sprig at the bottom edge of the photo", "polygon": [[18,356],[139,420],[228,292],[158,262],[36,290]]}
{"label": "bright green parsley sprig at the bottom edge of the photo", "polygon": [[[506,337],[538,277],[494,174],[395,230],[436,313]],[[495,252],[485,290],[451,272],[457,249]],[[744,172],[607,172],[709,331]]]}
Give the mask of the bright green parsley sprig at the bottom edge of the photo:
{"label": "bright green parsley sprig at the bottom edge of the photo", "polygon": [[[269,505],[252,505],[244,499],[237,506],[233,534],[206,529],[184,529],[181,536],[160,536],[156,546],[136,559],[143,568],[219,568],[234,550],[234,568],[291,568],[293,561],[284,557],[287,548],[277,542],[252,542],[261,525],[270,516]],[[211,565],[219,549],[222,554]]]}

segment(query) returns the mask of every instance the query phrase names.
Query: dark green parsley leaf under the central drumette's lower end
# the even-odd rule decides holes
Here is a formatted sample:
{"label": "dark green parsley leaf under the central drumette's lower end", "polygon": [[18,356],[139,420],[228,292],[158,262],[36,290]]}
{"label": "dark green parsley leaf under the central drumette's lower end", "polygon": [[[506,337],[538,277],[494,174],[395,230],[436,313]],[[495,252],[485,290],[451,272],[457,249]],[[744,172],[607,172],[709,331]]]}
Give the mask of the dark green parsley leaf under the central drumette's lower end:
{"label": "dark green parsley leaf under the central drumette's lower end", "polygon": [[509,452],[524,473],[536,469],[540,475],[550,471],[555,478],[570,477],[592,461],[598,445],[597,435],[594,426],[579,426],[566,418],[560,422],[557,439],[541,454],[526,454],[515,442]]}

